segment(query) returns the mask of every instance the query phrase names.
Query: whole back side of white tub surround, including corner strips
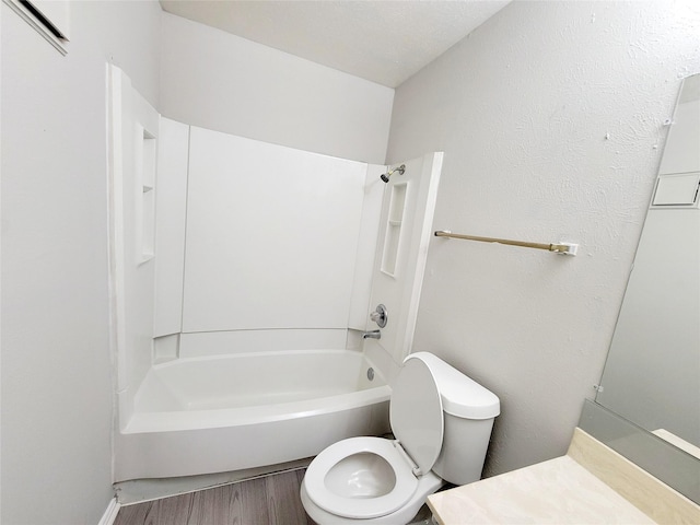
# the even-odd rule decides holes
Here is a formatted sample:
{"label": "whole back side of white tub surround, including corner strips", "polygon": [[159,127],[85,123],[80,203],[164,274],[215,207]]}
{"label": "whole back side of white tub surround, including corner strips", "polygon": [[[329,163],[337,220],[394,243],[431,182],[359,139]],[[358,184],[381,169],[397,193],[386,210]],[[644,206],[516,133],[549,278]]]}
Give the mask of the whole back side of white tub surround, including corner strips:
{"label": "whole back side of white tub surround, including corner strips", "polygon": [[384,166],[165,118],[160,148],[155,337],[194,355],[364,328]]}

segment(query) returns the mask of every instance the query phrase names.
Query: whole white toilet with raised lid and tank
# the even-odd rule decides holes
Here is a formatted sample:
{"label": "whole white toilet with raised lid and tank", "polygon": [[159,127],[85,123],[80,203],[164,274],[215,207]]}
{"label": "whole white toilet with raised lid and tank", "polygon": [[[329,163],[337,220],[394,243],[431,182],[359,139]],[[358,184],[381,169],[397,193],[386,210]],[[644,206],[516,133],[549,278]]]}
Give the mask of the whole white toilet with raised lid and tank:
{"label": "whole white toilet with raised lid and tank", "polygon": [[428,352],[404,361],[392,392],[396,441],[351,438],[318,454],[301,497],[319,525],[408,523],[445,481],[481,477],[499,398]]}

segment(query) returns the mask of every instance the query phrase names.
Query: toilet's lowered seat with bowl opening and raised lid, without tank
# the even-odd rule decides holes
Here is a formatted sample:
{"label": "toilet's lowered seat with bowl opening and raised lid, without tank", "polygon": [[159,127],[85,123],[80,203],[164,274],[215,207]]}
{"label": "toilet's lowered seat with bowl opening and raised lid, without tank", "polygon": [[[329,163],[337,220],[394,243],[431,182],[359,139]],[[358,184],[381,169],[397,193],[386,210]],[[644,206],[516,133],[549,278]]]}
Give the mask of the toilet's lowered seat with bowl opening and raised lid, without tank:
{"label": "toilet's lowered seat with bowl opening and raised lid, without tank", "polygon": [[[350,438],[312,460],[302,491],[311,503],[338,518],[382,521],[419,503],[411,500],[419,485],[439,486],[432,467],[442,448],[442,400],[430,366],[418,357],[404,361],[393,385],[389,421],[397,441]],[[420,493],[421,504],[428,493]]]}

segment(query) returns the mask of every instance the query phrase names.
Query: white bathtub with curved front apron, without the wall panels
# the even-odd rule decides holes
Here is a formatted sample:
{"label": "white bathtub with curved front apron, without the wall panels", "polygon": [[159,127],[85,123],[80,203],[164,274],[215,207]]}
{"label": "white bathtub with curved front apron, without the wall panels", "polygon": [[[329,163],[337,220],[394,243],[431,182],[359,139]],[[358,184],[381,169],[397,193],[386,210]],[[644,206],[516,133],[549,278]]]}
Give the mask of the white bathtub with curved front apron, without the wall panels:
{"label": "white bathtub with curved front apron, without the wall panels", "polygon": [[[115,481],[277,465],[388,431],[390,387],[362,352],[293,350],[152,366],[115,442]],[[376,369],[374,369],[376,371]]]}

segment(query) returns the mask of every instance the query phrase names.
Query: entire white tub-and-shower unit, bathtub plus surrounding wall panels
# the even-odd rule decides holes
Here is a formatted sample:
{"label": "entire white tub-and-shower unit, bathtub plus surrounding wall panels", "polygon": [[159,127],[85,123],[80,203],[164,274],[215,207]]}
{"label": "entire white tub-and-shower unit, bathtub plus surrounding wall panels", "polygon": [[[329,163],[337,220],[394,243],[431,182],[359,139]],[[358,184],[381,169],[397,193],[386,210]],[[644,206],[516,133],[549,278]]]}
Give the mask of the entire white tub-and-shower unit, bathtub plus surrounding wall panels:
{"label": "entire white tub-and-shower unit, bathtub plus surrounding wall panels", "polygon": [[432,164],[385,184],[387,166],[163,118],[115,67],[109,88],[115,481],[276,465],[387,431],[400,355],[359,331],[390,233],[398,262],[382,271],[407,285],[385,335],[410,343],[416,308],[398,301],[419,295],[433,207],[411,210],[435,191],[409,179]]}

